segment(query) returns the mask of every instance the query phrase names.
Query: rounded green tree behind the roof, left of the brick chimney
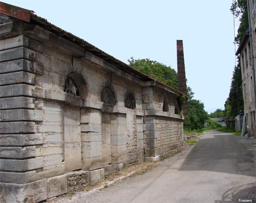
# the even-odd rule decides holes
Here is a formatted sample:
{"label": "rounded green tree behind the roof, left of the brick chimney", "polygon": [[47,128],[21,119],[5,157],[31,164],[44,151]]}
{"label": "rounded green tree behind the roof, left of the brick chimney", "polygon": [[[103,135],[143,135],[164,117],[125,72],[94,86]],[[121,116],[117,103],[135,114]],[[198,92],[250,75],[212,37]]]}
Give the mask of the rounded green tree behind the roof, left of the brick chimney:
{"label": "rounded green tree behind the roof, left of the brick chimney", "polygon": [[148,58],[135,60],[131,57],[131,59],[128,59],[128,62],[129,65],[142,73],[150,75],[170,87],[178,88],[177,72],[172,67]]}

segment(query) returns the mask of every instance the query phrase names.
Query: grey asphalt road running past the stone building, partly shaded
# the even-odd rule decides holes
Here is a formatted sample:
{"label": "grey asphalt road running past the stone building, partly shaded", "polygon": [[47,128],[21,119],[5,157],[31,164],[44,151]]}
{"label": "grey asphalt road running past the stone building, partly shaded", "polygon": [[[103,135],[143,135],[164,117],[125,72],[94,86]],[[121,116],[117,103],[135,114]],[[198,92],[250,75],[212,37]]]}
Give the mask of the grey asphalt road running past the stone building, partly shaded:
{"label": "grey asphalt road running past the stone building, partly shaded", "polygon": [[62,202],[255,202],[255,184],[255,139],[209,130],[143,175]]}

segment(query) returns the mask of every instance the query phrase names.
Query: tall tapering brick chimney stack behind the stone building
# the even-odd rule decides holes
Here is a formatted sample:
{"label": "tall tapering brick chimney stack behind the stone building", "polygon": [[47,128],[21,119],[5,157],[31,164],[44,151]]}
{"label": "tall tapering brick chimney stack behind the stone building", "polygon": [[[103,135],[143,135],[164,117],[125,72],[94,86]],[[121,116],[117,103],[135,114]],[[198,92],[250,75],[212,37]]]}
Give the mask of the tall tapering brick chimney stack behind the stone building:
{"label": "tall tapering brick chimney stack behind the stone building", "polygon": [[[177,40],[177,73],[178,73],[178,89],[181,93],[187,96],[187,84],[184,62],[183,41]],[[188,102],[187,99],[183,102],[183,115],[188,118]]]}

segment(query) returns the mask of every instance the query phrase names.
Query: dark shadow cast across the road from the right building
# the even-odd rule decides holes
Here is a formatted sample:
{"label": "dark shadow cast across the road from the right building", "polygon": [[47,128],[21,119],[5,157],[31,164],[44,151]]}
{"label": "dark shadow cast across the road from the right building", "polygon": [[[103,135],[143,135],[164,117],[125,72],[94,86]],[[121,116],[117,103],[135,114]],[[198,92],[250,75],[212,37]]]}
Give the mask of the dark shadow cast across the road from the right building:
{"label": "dark shadow cast across the road from the right building", "polygon": [[216,130],[205,131],[179,170],[215,171],[255,177],[255,140]]}

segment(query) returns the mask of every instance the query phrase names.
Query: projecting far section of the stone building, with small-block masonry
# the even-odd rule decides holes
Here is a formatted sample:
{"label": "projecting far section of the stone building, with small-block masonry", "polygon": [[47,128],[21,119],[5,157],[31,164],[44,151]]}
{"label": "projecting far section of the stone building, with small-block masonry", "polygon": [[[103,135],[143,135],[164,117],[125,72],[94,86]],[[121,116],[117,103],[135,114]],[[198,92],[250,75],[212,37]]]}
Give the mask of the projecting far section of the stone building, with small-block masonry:
{"label": "projecting far section of the stone building, with small-block masonry", "polygon": [[180,106],[176,97],[153,87],[144,89],[143,106],[146,108],[143,125],[145,161],[156,161],[183,143]]}

